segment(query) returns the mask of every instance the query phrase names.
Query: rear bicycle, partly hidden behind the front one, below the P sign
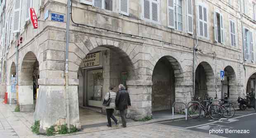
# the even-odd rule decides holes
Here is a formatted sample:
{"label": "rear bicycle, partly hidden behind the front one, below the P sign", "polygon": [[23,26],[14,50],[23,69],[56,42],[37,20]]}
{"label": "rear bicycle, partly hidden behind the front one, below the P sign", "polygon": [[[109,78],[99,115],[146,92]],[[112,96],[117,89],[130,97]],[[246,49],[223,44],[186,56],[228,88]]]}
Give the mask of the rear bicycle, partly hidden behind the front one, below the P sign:
{"label": "rear bicycle, partly hidden behind the front one, below the P sign", "polygon": [[220,106],[222,107],[223,110],[223,116],[226,118],[231,118],[235,115],[235,108],[233,105],[230,104],[228,100],[224,99],[219,99],[220,101]]}

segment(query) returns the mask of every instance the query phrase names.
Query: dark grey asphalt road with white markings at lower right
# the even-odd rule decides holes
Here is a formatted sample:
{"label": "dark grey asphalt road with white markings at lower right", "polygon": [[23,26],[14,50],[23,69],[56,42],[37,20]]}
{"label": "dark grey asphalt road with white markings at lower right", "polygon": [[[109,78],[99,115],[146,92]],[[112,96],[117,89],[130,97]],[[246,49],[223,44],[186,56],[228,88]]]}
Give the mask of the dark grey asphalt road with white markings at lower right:
{"label": "dark grey asphalt road with white markings at lower right", "polygon": [[[254,109],[236,111],[232,119],[222,118],[218,121],[211,118],[188,119],[160,122],[164,126],[173,126],[181,129],[188,129],[218,135],[227,138],[256,138],[256,113]],[[240,132],[239,132],[240,131]],[[243,132],[243,133],[241,133]]]}

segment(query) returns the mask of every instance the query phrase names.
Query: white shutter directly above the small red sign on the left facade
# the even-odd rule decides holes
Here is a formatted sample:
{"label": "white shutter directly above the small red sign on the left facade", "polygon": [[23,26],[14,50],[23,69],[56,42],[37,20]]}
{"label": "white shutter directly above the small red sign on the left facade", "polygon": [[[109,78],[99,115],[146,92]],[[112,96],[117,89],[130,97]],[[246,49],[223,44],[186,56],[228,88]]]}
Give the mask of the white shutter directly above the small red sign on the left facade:
{"label": "white shutter directly above the small red sign on the left facade", "polygon": [[14,0],[12,33],[18,33],[20,31],[20,25],[21,25],[20,18],[21,18],[21,0]]}

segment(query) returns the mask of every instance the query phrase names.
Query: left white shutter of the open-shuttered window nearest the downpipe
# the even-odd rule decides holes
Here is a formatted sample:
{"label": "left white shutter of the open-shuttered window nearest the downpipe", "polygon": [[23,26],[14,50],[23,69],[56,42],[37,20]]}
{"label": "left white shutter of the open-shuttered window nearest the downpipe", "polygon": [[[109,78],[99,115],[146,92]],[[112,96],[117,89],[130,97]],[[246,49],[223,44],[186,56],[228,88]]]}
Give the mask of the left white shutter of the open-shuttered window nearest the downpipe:
{"label": "left white shutter of the open-shuttered window nearest the downpipe", "polygon": [[167,5],[168,5],[168,27],[170,28],[175,28],[175,23],[174,23],[174,4],[173,4],[173,0],[168,0],[167,1]]}

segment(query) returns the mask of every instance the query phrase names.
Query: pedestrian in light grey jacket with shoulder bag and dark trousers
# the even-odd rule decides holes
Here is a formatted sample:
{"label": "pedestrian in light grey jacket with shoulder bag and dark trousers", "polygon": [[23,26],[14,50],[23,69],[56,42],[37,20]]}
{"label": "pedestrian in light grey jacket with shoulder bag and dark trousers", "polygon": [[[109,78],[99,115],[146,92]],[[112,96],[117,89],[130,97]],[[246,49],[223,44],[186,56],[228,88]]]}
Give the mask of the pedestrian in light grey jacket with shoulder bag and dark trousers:
{"label": "pedestrian in light grey jacket with shoulder bag and dark trousers", "polygon": [[104,99],[106,101],[109,101],[109,105],[106,106],[106,112],[107,112],[107,126],[111,127],[111,118],[114,120],[116,123],[116,126],[118,126],[119,121],[116,119],[116,117],[113,115],[114,109],[116,108],[116,93],[113,91],[114,87],[109,88],[109,92],[105,95]]}

